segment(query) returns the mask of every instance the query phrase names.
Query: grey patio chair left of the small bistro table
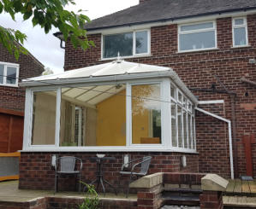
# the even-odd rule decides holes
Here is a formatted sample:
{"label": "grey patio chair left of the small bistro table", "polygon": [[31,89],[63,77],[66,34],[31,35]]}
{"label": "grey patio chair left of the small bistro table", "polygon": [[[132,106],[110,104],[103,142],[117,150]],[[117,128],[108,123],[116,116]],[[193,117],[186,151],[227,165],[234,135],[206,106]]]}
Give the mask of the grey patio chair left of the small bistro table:
{"label": "grey patio chair left of the small bistro table", "polygon": [[[79,170],[74,170],[76,163],[80,164]],[[58,178],[61,175],[74,175],[76,177],[79,177],[79,191],[80,191],[80,172],[82,170],[82,160],[80,158],[76,158],[73,156],[63,156],[63,157],[57,157],[56,165],[55,165],[55,192],[58,191]],[[76,182],[75,181],[75,182]]]}

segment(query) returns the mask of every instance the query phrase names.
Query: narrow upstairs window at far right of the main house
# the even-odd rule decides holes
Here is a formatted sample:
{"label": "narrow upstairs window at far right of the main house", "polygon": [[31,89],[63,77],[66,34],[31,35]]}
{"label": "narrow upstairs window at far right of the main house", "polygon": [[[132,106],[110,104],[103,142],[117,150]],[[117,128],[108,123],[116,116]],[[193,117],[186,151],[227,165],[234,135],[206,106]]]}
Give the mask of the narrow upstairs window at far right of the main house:
{"label": "narrow upstairs window at far right of the main house", "polygon": [[233,19],[233,46],[247,46],[247,19]]}

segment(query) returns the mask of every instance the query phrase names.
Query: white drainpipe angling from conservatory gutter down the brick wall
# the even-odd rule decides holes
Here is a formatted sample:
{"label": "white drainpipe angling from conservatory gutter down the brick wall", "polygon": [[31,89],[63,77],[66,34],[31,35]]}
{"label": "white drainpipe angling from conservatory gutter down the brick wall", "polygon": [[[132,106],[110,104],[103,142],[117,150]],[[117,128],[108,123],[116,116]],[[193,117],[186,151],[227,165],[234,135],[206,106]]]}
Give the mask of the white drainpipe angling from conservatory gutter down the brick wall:
{"label": "white drainpipe angling from conservatory gutter down the brick wall", "polygon": [[224,119],[223,117],[218,116],[217,114],[210,113],[208,111],[205,111],[199,107],[195,107],[196,110],[198,110],[201,113],[205,113],[207,115],[210,115],[213,118],[220,119],[228,124],[229,127],[229,160],[230,160],[230,174],[231,179],[234,179],[234,164],[233,164],[233,146],[232,146],[232,132],[231,132],[231,121],[229,119]]}

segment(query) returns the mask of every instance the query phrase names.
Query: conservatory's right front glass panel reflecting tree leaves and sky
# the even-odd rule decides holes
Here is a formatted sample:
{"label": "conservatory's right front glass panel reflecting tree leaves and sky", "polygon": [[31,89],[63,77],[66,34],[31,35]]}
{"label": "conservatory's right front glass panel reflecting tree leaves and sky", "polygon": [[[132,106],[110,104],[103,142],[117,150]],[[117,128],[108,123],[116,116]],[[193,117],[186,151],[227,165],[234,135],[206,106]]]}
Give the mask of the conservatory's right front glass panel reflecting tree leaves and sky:
{"label": "conservatory's right front glass panel reflecting tree leaves and sky", "polygon": [[133,143],[161,143],[160,84],[132,86]]}

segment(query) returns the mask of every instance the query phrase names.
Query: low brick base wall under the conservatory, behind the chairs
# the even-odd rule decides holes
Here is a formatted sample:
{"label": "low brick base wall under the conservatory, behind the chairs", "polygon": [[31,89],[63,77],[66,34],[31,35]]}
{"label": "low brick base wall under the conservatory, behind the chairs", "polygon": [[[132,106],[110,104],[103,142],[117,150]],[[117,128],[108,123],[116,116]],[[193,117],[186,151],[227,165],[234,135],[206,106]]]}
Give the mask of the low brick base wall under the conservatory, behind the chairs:
{"label": "low brick base wall under the conservatory, behind the chairs", "polygon": [[[81,180],[85,183],[90,183],[95,178],[96,163],[91,162],[90,158],[97,153],[39,153],[39,152],[22,152],[20,163],[20,181],[19,189],[33,189],[33,190],[53,190],[55,171],[51,167],[51,155],[58,154],[61,156],[75,156],[83,161],[83,168],[81,173]],[[104,153],[107,156],[113,156],[116,160],[109,160],[104,163],[104,177],[113,185],[119,183],[119,171],[122,167],[122,156],[130,154],[131,159],[138,159],[140,157],[150,155],[152,162],[148,174],[156,172],[198,172],[199,159],[198,154],[181,154],[181,153],[161,153],[161,152],[125,152],[125,153]],[[182,168],[181,157],[187,156],[187,167]],[[123,178],[121,186],[118,186],[119,192],[125,185],[127,188],[128,179]],[[62,176],[59,180],[59,190],[74,190],[75,177]],[[107,192],[114,192],[110,187],[106,187]],[[134,191],[131,190],[133,193]]]}

